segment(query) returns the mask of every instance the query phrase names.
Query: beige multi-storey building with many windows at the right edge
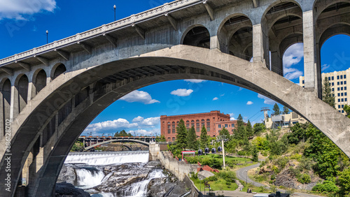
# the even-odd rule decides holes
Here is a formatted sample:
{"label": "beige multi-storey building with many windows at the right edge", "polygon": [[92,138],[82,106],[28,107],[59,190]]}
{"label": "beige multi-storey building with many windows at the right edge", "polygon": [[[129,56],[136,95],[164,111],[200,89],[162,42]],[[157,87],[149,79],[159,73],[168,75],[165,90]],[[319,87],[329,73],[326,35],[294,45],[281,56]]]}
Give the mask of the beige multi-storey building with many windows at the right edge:
{"label": "beige multi-storey building with many windows at the right edge", "polygon": [[[332,73],[322,73],[322,85],[325,78],[328,78],[330,83],[330,88],[335,96],[335,108],[346,115],[344,112],[344,105],[349,105],[349,93],[347,92],[349,89],[349,82],[347,81],[346,75],[350,72],[350,68],[346,71],[334,71]],[[348,76],[349,77],[349,76]],[[304,87],[304,77],[299,77],[299,85]]]}

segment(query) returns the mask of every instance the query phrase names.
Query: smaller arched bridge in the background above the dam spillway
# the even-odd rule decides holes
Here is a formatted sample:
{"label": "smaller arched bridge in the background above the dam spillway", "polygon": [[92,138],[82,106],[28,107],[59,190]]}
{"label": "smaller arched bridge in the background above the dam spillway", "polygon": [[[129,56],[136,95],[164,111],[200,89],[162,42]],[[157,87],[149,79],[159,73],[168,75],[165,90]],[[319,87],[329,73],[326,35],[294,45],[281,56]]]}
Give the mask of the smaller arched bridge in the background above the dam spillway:
{"label": "smaller arched bridge in the background above the dam spillway", "polygon": [[140,143],[142,145],[149,146],[151,142],[155,142],[155,136],[135,136],[135,137],[112,137],[112,136],[80,136],[78,141],[83,142],[85,150],[113,142],[131,142]]}

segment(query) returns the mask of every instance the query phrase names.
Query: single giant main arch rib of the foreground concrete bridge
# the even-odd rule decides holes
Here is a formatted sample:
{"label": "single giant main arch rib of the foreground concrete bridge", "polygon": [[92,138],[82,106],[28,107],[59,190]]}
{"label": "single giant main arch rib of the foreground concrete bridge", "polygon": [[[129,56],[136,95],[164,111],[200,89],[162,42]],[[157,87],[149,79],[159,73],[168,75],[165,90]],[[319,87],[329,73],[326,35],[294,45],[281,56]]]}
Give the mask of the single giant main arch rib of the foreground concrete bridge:
{"label": "single giant main arch rib of the foreground concrete bridge", "polygon": [[[137,73],[139,68],[148,71]],[[150,72],[152,74],[149,74]],[[130,73],[130,78],[121,73]],[[16,124],[13,124],[12,190],[17,185],[31,147],[41,136],[46,125],[55,117],[55,113],[68,103],[76,101],[74,96],[81,89],[91,87],[89,96],[72,105],[76,107],[64,117],[55,133],[52,133],[45,143],[44,165],[36,173],[37,181],[30,191],[31,195],[52,194],[59,170],[74,141],[92,119],[111,103],[147,85],[187,78],[216,80],[268,96],[305,117],[350,156],[350,119],[318,99],[313,92],[307,92],[299,85],[269,71],[262,62],[251,63],[217,49],[176,45],[92,66],[88,70],[67,72],[44,87],[38,96],[29,101],[30,108],[24,108]],[[92,91],[96,82],[99,82],[102,88]],[[6,165],[5,149],[0,151],[3,155],[3,166]],[[0,172],[1,177],[5,177],[3,173],[4,171]],[[5,185],[1,184],[0,188],[4,187]]]}

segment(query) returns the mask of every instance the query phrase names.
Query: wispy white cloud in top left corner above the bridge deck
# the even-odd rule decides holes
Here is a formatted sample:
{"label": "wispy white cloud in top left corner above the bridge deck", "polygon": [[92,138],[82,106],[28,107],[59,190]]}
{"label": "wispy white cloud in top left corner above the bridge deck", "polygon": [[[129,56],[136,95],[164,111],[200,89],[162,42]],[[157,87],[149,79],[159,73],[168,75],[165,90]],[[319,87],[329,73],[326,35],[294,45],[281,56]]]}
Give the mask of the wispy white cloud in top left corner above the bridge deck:
{"label": "wispy white cloud in top left corner above the bridge deck", "polygon": [[29,15],[45,11],[53,12],[55,8],[55,0],[2,0],[0,1],[0,20],[3,18],[28,20]]}

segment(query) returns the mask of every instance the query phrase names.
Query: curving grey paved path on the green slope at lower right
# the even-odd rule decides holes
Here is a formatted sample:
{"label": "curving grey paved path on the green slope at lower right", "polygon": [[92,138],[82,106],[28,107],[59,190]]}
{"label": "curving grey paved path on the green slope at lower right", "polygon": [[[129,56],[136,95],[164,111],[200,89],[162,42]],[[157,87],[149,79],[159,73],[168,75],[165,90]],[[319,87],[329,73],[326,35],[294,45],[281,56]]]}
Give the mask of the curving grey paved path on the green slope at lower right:
{"label": "curving grey paved path on the green slope at lower right", "polygon": [[[248,183],[251,183],[253,184],[254,186],[256,187],[265,187],[266,189],[269,189],[269,186],[265,185],[265,184],[261,184],[260,182],[255,182],[253,180],[251,180],[249,177],[248,177],[248,171],[253,169],[253,168],[257,168],[260,166],[260,163],[257,163],[255,165],[252,165],[252,166],[248,166],[248,167],[245,167],[245,168],[240,168],[236,171],[236,174],[237,174],[237,178],[239,180],[242,180],[244,182],[248,182]],[[281,192],[286,192],[285,190],[283,189],[278,189],[279,191]],[[237,191],[237,190],[236,190]],[[235,194],[232,194],[235,196]],[[225,193],[225,196],[226,196],[226,193]],[[251,195],[253,196],[253,195]],[[293,194],[293,196],[305,196],[305,197],[316,197],[316,195],[312,195],[312,194],[303,194],[303,193],[299,193],[299,192],[295,192]]]}

